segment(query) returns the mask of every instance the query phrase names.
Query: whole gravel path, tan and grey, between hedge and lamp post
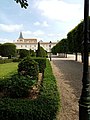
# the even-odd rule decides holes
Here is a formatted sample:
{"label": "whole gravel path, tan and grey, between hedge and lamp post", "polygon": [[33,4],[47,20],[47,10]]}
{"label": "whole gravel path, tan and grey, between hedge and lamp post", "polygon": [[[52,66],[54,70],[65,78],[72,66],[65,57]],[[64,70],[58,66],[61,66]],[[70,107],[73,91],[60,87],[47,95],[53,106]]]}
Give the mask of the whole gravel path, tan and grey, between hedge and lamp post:
{"label": "whole gravel path, tan and grey, between hedge and lamp post", "polygon": [[82,87],[82,64],[68,59],[54,59],[51,65],[62,106],[57,120],[79,120],[78,101]]}

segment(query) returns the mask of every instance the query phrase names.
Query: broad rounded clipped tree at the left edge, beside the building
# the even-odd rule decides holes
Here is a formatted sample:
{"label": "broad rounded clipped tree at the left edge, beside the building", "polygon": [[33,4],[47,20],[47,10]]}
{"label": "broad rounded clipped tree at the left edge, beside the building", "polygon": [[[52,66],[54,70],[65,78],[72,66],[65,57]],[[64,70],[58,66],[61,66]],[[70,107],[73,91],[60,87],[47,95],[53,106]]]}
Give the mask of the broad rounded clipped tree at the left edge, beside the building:
{"label": "broad rounded clipped tree at the left edge, beside the building", "polygon": [[13,57],[16,55],[16,46],[13,43],[4,43],[0,45],[0,52],[2,57]]}

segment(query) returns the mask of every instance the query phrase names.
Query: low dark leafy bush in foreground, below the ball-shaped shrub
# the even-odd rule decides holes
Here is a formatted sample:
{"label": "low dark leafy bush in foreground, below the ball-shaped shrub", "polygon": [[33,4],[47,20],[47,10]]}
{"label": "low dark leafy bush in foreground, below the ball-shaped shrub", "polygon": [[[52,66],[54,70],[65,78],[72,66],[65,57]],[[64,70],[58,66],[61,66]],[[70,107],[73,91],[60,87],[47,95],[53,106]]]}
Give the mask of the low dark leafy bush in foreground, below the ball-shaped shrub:
{"label": "low dark leafy bush in foreground, below the ball-shaped shrub", "polygon": [[3,93],[0,97],[26,98],[29,96],[29,91],[35,82],[28,75],[20,76],[18,74],[0,80],[0,92]]}

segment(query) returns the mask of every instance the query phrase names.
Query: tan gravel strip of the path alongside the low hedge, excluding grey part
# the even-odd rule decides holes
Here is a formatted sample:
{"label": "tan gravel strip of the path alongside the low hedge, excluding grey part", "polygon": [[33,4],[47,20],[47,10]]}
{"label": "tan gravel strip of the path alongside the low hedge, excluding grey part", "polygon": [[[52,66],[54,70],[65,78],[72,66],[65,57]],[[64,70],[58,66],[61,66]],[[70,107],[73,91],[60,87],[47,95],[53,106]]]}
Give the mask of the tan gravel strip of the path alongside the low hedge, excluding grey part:
{"label": "tan gravel strip of the path alongside the low hedge, excluding grey part", "polygon": [[[57,86],[60,92],[60,99],[61,99],[61,108],[57,114],[57,120],[79,120],[78,101],[79,101],[81,86],[78,87],[80,89],[77,88],[77,90],[74,89],[73,87],[75,86],[75,82],[77,82],[77,78],[75,78],[76,81],[72,80],[72,82],[74,81],[72,85],[69,79],[72,79],[74,76],[69,74],[71,72],[69,69],[66,68],[66,66],[63,67],[62,63],[59,62],[57,63],[56,61],[51,61],[51,66],[57,80]],[[71,68],[73,69],[72,65]],[[66,69],[66,71],[68,70],[67,75],[65,75],[65,72],[63,72],[62,69]],[[81,82],[77,83],[76,86],[80,84]]]}

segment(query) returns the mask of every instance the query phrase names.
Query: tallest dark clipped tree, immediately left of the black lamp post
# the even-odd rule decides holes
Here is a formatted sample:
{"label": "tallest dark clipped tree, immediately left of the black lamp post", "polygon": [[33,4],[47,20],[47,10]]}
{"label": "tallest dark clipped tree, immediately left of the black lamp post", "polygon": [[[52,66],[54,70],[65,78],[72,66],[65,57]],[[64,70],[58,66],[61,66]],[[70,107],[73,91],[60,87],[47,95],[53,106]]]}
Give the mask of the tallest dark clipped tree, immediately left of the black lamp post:
{"label": "tallest dark clipped tree, immediately left of the black lamp post", "polygon": [[67,34],[69,52],[83,50],[83,21]]}

